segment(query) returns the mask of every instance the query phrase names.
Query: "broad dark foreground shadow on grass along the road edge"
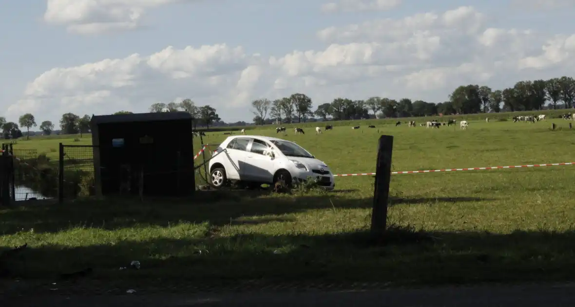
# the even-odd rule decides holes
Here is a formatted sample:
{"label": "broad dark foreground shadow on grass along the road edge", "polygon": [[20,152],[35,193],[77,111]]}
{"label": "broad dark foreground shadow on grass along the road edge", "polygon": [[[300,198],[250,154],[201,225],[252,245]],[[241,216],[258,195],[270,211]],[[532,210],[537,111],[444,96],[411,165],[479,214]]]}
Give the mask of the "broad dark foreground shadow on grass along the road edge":
{"label": "broad dark foreground shadow on grass along the road edge", "polygon": [[[367,244],[366,231],[332,235],[258,233],[115,244],[28,248],[5,263],[11,278],[80,279],[104,287],[186,291],[186,286],[240,286],[243,281],[392,282],[421,285],[573,280],[575,233],[415,232],[392,227],[387,244]],[[139,260],[140,270],[119,270]],[[75,283],[71,281],[70,283]],[[48,283],[49,285],[49,283]],[[85,285],[83,285],[85,287]],[[171,289],[171,290],[170,290]]]}

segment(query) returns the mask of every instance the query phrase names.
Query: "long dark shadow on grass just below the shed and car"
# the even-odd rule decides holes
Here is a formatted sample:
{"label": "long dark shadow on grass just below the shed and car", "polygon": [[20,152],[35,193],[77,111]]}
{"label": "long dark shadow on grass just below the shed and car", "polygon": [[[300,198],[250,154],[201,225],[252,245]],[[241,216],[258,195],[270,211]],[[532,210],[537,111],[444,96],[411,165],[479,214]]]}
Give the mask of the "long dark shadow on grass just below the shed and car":
{"label": "long dark shadow on grass just below the shed and car", "polygon": [[[178,222],[209,222],[216,227],[232,223],[263,224],[266,218],[284,214],[324,209],[368,209],[373,206],[370,198],[348,198],[350,190],[307,195],[270,195],[269,191],[201,191],[193,199],[146,198],[144,202],[133,198],[74,201],[62,205],[34,205],[0,212],[0,234],[17,232],[54,233],[70,228],[121,228],[168,227]],[[391,198],[390,205],[435,204],[436,202],[477,202],[489,199],[471,197],[453,198]],[[239,218],[259,217],[251,221]],[[285,220],[284,220],[285,221]],[[32,229],[32,230],[31,230]]]}

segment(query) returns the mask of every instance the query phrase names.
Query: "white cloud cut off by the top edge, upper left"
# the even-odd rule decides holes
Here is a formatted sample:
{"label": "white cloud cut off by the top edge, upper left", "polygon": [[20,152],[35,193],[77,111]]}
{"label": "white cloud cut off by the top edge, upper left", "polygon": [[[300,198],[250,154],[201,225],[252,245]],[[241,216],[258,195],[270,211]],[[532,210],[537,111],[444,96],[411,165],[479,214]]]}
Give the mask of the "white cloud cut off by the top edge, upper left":
{"label": "white cloud cut off by the top edge, upper left", "polygon": [[68,31],[95,34],[135,29],[146,10],[194,0],[47,0],[44,20]]}

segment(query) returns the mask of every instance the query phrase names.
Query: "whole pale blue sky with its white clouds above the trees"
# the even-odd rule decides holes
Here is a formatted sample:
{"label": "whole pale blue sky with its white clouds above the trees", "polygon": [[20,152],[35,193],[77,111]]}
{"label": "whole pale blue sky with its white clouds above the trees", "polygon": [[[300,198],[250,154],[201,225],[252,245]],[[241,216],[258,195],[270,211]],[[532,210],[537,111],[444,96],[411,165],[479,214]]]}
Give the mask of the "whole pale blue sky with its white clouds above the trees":
{"label": "whole pale blue sky with its white clouds above the trees", "polygon": [[0,0],[1,115],[191,98],[250,121],[252,100],[297,92],[440,102],[575,71],[574,0],[332,1]]}

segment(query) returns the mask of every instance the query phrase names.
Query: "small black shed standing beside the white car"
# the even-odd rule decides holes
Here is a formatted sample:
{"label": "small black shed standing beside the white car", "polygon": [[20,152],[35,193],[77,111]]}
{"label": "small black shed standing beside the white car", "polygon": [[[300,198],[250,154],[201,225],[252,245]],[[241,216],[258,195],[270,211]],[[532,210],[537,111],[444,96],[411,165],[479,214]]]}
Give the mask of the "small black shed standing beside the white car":
{"label": "small black shed standing beside the white car", "polygon": [[191,195],[192,117],[187,112],[92,116],[98,194]]}

